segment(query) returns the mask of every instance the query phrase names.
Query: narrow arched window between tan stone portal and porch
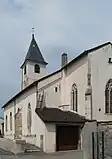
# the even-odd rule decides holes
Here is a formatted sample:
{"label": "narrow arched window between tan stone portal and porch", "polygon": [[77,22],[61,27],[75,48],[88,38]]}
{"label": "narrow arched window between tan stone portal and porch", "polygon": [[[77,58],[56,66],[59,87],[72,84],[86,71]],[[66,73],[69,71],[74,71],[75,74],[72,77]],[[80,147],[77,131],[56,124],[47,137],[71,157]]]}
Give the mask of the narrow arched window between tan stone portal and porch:
{"label": "narrow arched window between tan stone portal and porch", "polygon": [[32,114],[31,114],[31,105],[28,104],[28,114],[27,114],[27,126],[28,126],[28,132],[31,133],[31,125],[32,125]]}

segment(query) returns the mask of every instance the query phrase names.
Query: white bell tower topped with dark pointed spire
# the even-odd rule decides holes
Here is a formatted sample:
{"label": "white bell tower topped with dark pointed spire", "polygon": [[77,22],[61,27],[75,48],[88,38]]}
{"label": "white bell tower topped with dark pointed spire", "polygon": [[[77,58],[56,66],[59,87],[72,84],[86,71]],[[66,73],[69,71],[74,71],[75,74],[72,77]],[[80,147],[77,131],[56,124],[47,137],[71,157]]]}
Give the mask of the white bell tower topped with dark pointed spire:
{"label": "white bell tower topped with dark pointed spire", "polygon": [[22,69],[21,89],[26,88],[34,81],[46,76],[47,64],[48,63],[44,60],[41,51],[37,45],[33,31],[32,40],[27,55],[21,66]]}

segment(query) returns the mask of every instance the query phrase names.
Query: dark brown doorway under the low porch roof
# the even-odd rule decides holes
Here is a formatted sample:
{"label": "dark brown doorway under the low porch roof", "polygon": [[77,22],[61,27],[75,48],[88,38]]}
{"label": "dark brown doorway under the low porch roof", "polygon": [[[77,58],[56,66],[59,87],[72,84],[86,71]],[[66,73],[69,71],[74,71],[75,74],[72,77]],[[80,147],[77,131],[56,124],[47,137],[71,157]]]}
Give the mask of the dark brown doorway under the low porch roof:
{"label": "dark brown doorway under the low porch roof", "polygon": [[79,142],[79,126],[57,126],[56,127],[56,149],[77,150]]}

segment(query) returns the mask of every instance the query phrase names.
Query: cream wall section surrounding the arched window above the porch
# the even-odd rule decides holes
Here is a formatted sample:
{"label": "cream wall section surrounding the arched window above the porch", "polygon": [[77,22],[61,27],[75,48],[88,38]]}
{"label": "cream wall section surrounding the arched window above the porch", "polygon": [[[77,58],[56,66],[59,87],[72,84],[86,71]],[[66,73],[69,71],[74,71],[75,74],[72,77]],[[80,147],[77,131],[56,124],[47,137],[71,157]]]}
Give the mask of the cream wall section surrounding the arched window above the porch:
{"label": "cream wall section surrounding the arched window above the porch", "polygon": [[88,62],[87,56],[74,62],[63,71],[61,81],[61,103],[71,109],[71,90],[75,83],[78,89],[78,113],[85,115],[85,90],[87,88]]}

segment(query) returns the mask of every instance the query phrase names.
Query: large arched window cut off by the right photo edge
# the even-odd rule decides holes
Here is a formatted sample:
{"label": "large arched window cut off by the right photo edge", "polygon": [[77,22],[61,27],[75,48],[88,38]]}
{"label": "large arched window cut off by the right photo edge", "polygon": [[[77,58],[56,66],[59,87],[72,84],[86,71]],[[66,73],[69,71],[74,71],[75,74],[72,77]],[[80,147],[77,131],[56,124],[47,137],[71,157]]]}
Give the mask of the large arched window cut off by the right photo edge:
{"label": "large arched window cut off by the right photo edge", "polygon": [[112,79],[110,79],[105,88],[105,113],[112,113]]}

